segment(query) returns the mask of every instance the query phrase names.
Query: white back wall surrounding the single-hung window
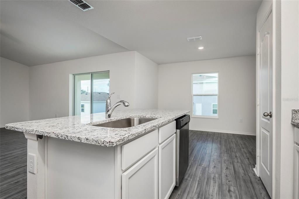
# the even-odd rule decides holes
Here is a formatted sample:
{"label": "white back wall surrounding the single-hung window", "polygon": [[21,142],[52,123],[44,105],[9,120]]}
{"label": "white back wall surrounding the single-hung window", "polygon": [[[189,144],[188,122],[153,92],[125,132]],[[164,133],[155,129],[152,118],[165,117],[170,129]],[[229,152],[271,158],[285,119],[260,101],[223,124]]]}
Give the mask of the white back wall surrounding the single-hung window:
{"label": "white back wall surrounding the single-hung window", "polygon": [[255,56],[163,64],[158,69],[159,109],[191,110],[191,74],[219,72],[219,119],[191,118],[190,129],[256,134]]}

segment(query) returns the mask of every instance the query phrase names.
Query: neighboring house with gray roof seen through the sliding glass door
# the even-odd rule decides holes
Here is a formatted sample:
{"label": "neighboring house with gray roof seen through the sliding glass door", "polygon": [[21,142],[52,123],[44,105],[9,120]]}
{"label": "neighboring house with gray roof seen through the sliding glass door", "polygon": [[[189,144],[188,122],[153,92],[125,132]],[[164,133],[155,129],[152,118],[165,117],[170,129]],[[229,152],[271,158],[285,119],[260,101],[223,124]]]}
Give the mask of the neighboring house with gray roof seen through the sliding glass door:
{"label": "neighboring house with gray roof seen through the sliding glass door", "polygon": [[[103,113],[106,111],[106,100],[109,93],[93,92],[93,113]],[[90,114],[90,92],[81,94],[81,115]]]}

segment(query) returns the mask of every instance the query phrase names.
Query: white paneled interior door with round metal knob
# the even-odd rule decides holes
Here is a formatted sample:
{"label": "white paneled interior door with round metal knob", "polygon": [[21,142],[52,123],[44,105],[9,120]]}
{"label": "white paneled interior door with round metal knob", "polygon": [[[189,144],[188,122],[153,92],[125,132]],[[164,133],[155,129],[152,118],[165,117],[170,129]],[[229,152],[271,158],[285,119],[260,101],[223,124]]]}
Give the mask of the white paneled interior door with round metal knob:
{"label": "white paneled interior door with round metal knob", "polygon": [[259,32],[260,48],[260,178],[272,198],[272,12]]}

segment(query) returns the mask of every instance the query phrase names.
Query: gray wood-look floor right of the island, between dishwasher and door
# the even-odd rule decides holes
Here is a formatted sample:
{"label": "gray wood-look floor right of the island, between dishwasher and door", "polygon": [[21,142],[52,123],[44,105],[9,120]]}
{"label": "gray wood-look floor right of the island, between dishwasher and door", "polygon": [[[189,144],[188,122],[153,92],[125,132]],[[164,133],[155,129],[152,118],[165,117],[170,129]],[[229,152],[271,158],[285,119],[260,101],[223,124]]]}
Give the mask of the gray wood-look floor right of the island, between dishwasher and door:
{"label": "gray wood-look floor right of the island, between dishwasher and door", "polygon": [[189,167],[170,199],[270,199],[253,171],[255,139],[190,130]]}

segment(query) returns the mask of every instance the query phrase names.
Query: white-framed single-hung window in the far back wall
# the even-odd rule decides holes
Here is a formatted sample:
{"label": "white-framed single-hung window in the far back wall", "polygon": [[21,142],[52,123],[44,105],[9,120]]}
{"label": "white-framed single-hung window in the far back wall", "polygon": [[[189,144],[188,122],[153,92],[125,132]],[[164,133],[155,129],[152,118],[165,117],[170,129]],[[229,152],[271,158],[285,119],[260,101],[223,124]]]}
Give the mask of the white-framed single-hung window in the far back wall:
{"label": "white-framed single-hung window in the far back wall", "polygon": [[192,116],[218,118],[218,72],[192,74]]}

